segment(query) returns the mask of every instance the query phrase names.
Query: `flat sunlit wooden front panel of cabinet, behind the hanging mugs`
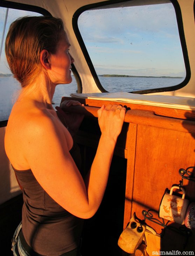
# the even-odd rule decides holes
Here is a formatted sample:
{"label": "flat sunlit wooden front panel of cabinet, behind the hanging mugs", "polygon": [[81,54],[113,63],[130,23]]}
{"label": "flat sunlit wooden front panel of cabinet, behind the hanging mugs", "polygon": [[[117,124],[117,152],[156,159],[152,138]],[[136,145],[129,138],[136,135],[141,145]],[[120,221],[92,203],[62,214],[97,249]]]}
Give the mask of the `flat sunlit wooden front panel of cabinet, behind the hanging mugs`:
{"label": "flat sunlit wooden front panel of cabinet, behind the hanging mugs", "polygon": [[[190,133],[138,125],[132,211],[139,218],[142,210],[159,210],[165,189],[179,184],[179,169],[194,165],[194,149]],[[195,183],[191,185],[195,191]],[[187,184],[185,188],[186,196],[193,199]],[[160,226],[155,229],[161,232]]]}

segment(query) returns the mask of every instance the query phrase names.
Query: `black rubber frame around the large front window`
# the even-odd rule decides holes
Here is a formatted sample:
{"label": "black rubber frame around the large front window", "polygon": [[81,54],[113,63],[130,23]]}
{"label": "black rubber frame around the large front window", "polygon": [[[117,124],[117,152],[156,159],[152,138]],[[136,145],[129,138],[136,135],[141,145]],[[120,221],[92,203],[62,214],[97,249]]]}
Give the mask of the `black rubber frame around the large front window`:
{"label": "black rubber frame around the large front window", "polygon": [[[95,80],[95,83],[96,83],[98,89],[101,92],[107,92],[107,91],[103,88],[102,84],[99,81],[98,75],[95,71],[95,68],[94,68],[93,63],[91,61],[89,53],[88,53],[88,51],[86,49],[86,46],[84,44],[84,41],[82,39],[82,35],[81,35],[81,33],[79,31],[79,28],[78,28],[78,18],[83,12],[88,11],[89,9],[103,7],[103,6],[106,6],[106,5],[109,6],[109,5],[112,5],[112,4],[118,4],[118,3],[122,3],[122,2],[128,2],[128,1],[131,1],[131,0],[107,0],[107,1],[104,1],[104,2],[98,2],[98,3],[95,3],[95,4],[85,5],[85,6],[82,6],[81,8],[79,8],[79,9],[77,9],[77,11],[74,13],[74,15],[72,17],[72,27],[73,27],[73,30],[75,32],[76,38],[77,38],[78,43],[81,47],[81,50],[84,54],[86,63],[88,63],[88,66],[89,66],[89,69],[91,71],[92,77]],[[180,6],[179,6],[179,3],[177,2],[177,0],[170,0],[170,2],[172,2],[173,7],[175,9],[177,26],[178,26],[181,48],[182,48],[182,53],[183,53],[183,60],[184,60],[185,68],[186,68],[186,77],[182,81],[182,83],[180,83],[179,85],[174,85],[174,86],[169,86],[169,87],[162,87],[162,88],[147,89],[147,90],[138,90],[138,91],[133,91],[133,92],[130,91],[130,93],[148,94],[148,93],[156,93],[156,92],[176,91],[176,90],[179,90],[180,88],[186,86],[187,83],[190,80],[191,71],[190,71],[190,64],[189,64],[186,40],[185,40],[185,36],[184,36],[181,9],[180,9]]]}

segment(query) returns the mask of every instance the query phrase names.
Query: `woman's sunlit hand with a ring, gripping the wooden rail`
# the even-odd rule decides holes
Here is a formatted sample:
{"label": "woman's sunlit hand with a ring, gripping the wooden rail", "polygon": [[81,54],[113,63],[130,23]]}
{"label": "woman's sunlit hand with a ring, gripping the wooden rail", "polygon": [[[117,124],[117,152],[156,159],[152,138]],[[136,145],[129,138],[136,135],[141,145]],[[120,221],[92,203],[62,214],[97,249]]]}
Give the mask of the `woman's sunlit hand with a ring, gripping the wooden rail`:
{"label": "woman's sunlit hand with a ring, gripping the wooden rail", "polygon": [[98,110],[98,123],[102,135],[117,140],[125,118],[125,107],[121,105],[103,105]]}

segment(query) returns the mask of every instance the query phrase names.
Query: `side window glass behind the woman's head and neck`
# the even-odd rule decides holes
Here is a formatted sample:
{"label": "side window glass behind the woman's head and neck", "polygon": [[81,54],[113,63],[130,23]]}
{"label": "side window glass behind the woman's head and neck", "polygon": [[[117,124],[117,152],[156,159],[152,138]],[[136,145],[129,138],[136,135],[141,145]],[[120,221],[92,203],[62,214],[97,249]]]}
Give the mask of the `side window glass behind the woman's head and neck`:
{"label": "side window glass behind the woman's head and neck", "polygon": [[[9,70],[5,57],[5,38],[10,24],[17,18],[23,16],[40,16],[40,13],[23,11],[12,8],[0,7],[0,121],[7,120],[12,110],[12,106],[17,99],[21,87],[13,78]],[[70,96],[71,92],[76,92],[77,82],[72,77],[70,85],[58,85],[53,98],[54,107],[59,106],[62,96]]]}

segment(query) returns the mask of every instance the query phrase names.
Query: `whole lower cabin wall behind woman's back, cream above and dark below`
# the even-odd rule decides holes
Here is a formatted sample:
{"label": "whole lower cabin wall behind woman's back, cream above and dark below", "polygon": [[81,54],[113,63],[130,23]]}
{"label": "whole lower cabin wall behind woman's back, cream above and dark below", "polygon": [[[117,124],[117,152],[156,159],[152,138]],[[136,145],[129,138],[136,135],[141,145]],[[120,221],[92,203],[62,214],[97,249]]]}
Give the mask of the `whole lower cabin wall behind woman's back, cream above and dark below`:
{"label": "whole lower cabin wall behind woman's back, cream above and dark below", "polygon": [[5,153],[6,127],[0,127],[0,241],[2,252],[12,256],[11,239],[22,217],[22,191]]}

